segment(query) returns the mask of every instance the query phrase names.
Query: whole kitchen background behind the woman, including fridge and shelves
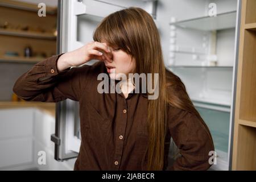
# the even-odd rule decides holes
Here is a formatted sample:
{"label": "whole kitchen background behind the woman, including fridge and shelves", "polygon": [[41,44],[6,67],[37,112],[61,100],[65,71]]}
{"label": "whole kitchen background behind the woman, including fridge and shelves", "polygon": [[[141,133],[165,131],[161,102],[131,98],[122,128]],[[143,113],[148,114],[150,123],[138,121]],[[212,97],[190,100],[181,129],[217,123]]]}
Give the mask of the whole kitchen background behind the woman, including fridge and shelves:
{"label": "whole kitchen background behind the woman, including fridge and shelves", "polygon": [[256,169],[256,0],[0,0],[0,170],[73,170],[77,102],[23,101],[14,82],[40,60],[89,42],[104,16],[129,6],[154,18],[166,67],[212,133],[210,170]]}

